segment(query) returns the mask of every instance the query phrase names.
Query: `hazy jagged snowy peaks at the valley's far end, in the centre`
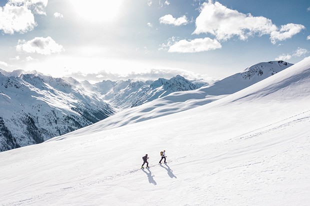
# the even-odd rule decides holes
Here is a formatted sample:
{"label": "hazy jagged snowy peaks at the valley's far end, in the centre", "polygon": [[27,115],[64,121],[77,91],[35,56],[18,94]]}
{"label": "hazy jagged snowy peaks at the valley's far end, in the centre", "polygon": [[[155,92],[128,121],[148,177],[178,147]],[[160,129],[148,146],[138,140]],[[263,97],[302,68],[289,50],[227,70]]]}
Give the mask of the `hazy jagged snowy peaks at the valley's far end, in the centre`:
{"label": "hazy jagged snowy peaks at the valley's far end, in the centre", "polygon": [[171,79],[159,78],[156,81],[102,81],[91,85],[91,91],[99,92],[102,99],[114,107],[125,109],[139,106],[154,99],[164,97],[177,91],[189,91],[207,85],[207,82],[189,81],[180,75]]}

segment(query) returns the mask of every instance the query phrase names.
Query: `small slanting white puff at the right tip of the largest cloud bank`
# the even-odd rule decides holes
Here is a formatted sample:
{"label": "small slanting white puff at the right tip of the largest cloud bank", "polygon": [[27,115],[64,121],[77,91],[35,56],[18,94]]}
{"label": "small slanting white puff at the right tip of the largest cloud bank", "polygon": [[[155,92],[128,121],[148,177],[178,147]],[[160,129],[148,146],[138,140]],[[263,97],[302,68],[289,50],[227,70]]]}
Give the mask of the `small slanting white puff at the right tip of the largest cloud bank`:
{"label": "small slanting white puff at the right tip of the largest cloud bank", "polygon": [[293,35],[299,33],[305,27],[301,24],[288,23],[286,25],[282,25],[278,31],[272,31],[270,33],[270,39],[273,44],[276,41],[283,41],[287,38],[291,38]]}

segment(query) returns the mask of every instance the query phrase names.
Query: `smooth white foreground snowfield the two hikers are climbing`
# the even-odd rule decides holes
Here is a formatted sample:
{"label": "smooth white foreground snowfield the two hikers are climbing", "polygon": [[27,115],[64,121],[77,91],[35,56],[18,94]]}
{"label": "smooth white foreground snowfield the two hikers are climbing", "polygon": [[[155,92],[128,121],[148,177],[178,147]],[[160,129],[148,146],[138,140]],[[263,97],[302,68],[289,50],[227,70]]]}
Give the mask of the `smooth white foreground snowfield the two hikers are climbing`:
{"label": "smooth white foreground snowfield the two hikers are climbing", "polygon": [[0,205],[306,206],[309,103],[310,57],[206,105],[5,151]]}

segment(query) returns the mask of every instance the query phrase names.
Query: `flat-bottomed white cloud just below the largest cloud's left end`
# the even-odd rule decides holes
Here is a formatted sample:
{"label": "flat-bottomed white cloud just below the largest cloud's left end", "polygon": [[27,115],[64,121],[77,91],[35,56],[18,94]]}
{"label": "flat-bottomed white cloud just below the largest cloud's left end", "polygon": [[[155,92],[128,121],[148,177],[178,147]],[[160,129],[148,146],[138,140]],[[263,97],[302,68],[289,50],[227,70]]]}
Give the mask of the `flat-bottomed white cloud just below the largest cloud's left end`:
{"label": "flat-bottomed white cloud just below the largest cloud's left end", "polygon": [[216,39],[196,38],[190,41],[185,39],[171,45],[168,52],[194,53],[201,51],[209,51],[221,48],[220,43]]}

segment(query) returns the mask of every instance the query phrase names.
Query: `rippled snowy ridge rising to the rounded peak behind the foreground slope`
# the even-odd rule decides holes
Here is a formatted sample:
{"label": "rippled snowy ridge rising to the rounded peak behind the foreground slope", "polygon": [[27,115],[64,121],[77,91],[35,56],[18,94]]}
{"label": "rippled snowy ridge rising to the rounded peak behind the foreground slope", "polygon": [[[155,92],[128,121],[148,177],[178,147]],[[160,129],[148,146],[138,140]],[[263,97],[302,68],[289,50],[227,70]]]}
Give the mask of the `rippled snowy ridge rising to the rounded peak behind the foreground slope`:
{"label": "rippled snowy ridge rising to the rounded peak behind the foreground slope", "polygon": [[261,62],[214,84],[196,90],[173,92],[139,107],[120,111],[100,124],[102,129],[107,130],[205,105],[255,84],[291,65],[284,61]]}

